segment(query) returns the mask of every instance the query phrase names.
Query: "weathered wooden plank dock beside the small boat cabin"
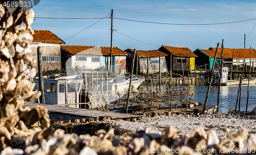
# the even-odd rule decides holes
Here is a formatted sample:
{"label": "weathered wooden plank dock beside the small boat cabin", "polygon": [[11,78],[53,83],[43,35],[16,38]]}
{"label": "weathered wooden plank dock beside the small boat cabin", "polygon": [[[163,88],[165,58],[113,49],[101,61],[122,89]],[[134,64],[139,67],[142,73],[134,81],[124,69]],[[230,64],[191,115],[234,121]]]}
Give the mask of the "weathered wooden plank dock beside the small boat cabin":
{"label": "weathered wooden plank dock beside the small boat cabin", "polygon": [[102,112],[98,110],[89,110],[82,108],[73,108],[66,106],[50,105],[50,104],[40,104],[34,102],[25,102],[23,107],[29,106],[31,108],[36,105],[43,106],[48,109],[50,119],[65,121],[71,119],[79,118],[99,118],[99,117],[111,117],[112,119],[132,119],[136,120],[142,118],[143,116],[124,114],[124,113],[113,113],[113,112]]}

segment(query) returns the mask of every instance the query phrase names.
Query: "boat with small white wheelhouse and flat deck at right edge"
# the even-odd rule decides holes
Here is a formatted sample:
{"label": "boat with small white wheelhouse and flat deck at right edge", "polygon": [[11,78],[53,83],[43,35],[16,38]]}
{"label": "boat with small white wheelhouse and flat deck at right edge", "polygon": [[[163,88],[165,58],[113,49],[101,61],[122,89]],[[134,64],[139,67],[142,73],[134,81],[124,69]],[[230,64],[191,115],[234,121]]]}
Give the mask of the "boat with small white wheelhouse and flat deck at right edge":
{"label": "boat with small white wheelhouse and flat deck at right edge", "polygon": [[[221,67],[215,67],[214,68],[214,74],[212,76],[212,82],[211,84],[219,84],[221,82],[221,85],[239,85],[240,79],[234,79],[231,80],[230,75],[228,75],[228,67],[223,67],[222,68],[222,76],[220,80],[220,73],[221,73]],[[205,76],[206,84],[209,84],[211,77],[211,71],[208,72],[208,74]],[[243,78],[241,80],[242,84],[248,84],[248,78]],[[256,83],[256,78],[250,78],[249,84],[255,84]]]}

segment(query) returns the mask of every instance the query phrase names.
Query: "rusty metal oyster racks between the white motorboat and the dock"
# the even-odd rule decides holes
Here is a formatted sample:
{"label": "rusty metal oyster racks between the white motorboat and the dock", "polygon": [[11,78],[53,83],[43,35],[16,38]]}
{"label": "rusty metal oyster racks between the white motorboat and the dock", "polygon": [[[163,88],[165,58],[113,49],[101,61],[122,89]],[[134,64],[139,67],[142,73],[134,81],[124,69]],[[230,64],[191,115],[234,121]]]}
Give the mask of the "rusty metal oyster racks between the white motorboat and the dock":
{"label": "rusty metal oyster racks between the white motorboat and the dock", "polygon": [[[189,97],[190,96],[190,97]],[[192,94],[189,94],[189,87],[176,88],[175,86],[169,90],[151,90],[147,87],[143,90],[139,88],[138,92],[132,92],[130,96],[129,111],[134,112],[153,112],[157,110],[172,111],[177,109],[177,105],[188,108]],[[112,94],[110,96],[110,108],[117,112],[123,112],[126,106],[127,91],[123,93]],[[174,105],[174,106],[173,106]],[[180,106],[179,106],[180,107]]]}

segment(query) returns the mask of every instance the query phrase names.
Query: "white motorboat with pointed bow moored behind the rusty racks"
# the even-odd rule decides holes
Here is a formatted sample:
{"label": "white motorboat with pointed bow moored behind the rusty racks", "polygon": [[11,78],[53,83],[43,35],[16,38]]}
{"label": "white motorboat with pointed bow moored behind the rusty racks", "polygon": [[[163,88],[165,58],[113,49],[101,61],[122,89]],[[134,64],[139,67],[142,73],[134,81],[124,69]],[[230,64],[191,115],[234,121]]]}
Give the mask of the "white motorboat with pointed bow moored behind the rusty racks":
{"label": "white motorboat with pointed bow moored behind the rusty racks", "polygon": [[[145,79],[139,79],[135,75],[132,77],[132,88],[136,90],[138,86],[145,81]],[[128,90],[130,84],[130,77],[126,77],[124,74],[120,74],[117,77],[108,81],[108,90],[111,92],[123,92]],[[106,88],[106,82],[104,83]]]}

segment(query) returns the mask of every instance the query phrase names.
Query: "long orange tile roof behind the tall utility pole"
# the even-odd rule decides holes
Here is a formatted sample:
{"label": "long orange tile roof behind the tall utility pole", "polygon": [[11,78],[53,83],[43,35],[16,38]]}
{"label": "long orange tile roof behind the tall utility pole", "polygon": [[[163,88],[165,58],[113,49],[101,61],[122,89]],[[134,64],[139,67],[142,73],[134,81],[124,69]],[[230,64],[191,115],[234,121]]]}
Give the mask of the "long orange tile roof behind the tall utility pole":
{"label": "long orange tile roof behind the tall utility pole", "polygon": [[[97,47],[97,46],[71,46],[62,45],[62,49],[74,54],[93,54],[93,55],[110,55],[110,47]],[[117,47],[112,48],[113,55],[129,55],[128,53],[120,50]]]}

